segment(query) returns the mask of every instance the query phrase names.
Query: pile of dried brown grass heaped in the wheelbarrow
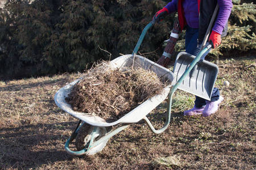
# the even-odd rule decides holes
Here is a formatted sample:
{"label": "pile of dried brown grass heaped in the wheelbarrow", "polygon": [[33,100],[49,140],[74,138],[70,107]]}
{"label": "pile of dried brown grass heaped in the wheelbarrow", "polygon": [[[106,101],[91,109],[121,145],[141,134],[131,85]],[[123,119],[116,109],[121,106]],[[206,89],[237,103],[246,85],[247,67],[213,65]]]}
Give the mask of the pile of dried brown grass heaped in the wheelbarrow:
{"label": "pile of dried brown grass heaped in the wheelbarrow", "polygon": [[66,99],[74,111],[115,121],[148,98],[160,94],[164,83],[141,67],[112,69],[102,62],[85,73]]}

